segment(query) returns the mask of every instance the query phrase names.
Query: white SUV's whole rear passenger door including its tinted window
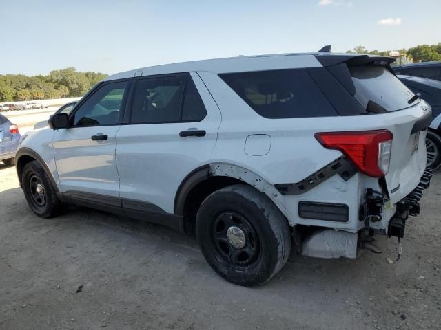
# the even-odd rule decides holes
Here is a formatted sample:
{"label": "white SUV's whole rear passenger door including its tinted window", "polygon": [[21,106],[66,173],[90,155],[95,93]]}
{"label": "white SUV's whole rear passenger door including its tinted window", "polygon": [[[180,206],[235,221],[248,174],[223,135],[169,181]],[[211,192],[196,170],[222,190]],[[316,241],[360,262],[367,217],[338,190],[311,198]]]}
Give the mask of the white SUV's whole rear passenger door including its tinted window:
{"label": "white SUV's whole rear passenger door including its tinted window", "polygon": [[130,118],[116,135],[123,205],[132,199],[173,213],[183,179],[209,163],[220,111],[195,73],[136,78],[132,89]]}

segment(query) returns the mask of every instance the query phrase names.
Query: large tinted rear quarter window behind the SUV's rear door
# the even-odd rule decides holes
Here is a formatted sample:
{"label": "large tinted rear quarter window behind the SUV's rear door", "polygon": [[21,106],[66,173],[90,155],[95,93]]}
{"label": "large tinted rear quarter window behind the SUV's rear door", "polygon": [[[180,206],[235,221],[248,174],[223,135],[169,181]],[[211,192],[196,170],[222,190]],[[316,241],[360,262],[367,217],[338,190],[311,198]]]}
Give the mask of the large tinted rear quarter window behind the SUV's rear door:
{"label": "large tinted rear quarter window behind the SUV's rear door", "polygon": [[337,115],[305,69],[220,74],[220,78],[265,118]]}

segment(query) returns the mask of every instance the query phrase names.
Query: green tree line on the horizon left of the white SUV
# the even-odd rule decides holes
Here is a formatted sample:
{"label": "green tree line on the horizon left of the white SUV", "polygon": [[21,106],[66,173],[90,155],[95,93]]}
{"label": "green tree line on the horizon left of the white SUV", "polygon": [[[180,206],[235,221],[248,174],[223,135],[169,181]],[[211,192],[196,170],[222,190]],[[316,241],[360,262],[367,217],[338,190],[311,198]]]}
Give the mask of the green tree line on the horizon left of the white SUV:
{"label": "green tree line on the horizon left of the white SUV", "polygon": [[77,72],[74,67],[53,70],[47,76],[0,74],[0,102],[83,96],[107,74]]}

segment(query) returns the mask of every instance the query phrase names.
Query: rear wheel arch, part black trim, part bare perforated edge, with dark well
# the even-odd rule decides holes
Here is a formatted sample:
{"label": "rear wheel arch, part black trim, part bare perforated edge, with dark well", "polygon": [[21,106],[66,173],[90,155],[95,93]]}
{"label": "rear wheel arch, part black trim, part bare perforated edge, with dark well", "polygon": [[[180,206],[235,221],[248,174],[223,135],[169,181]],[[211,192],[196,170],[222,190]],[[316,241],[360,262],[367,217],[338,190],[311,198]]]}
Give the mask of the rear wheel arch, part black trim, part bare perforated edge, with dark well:
{"label": "rear wheel arch, part black trim, part bare perforated edge, with dark well", "polygon": [[189,173],[176,192],[174,214],[183,217],[185,232],[194,231],[196,213],[203,200],[212,192],[233,184],[246,184],[263,192],[288,217],[282,202],[283,196],[263,177],[235,164],[210,163]]}

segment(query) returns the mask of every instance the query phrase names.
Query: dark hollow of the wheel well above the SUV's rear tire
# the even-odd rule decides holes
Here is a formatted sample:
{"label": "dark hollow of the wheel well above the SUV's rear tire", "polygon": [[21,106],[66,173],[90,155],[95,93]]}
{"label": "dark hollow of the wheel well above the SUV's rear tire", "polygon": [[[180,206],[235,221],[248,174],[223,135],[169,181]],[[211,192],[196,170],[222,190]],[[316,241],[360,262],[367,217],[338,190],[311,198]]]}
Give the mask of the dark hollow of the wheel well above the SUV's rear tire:
{"label": "dark hollow of the wheel well above the SUV's rear tire", "polygon": [[185,198],[183,208],[184,228],[187,234],[195,234],[196,214],[198,213],[201,203],[216,190],[232,186],[233,184],[248,185],[246,182],[235,179],[234,177],[216,176],[209,177],[189,191]]}

